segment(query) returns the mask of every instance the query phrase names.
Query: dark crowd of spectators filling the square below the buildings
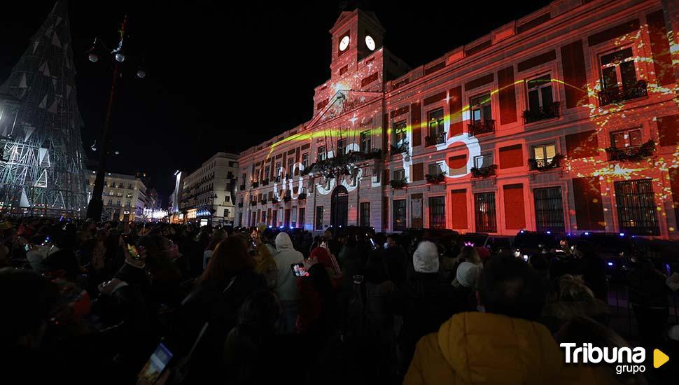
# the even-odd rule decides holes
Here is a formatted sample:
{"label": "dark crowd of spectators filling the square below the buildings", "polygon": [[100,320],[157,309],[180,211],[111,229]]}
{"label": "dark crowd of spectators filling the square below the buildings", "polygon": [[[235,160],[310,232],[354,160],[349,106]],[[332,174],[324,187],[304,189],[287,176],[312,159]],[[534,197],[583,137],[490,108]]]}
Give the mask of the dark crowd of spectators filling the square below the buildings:
{"label": "dark crowd of spectators filling the square below the buildings", "polygon": [[[314,237],[264,224],[4,218],[0,237],[0,360],[6,378],[23,382],[646,384],[668,375],[564,362],[561,342],[628,346],[609,327],[605,267],[587,241],[524,260],[426,233]],[[679,274],[634,255],[626,284],[640,346],[676,351],[668,295]]]}

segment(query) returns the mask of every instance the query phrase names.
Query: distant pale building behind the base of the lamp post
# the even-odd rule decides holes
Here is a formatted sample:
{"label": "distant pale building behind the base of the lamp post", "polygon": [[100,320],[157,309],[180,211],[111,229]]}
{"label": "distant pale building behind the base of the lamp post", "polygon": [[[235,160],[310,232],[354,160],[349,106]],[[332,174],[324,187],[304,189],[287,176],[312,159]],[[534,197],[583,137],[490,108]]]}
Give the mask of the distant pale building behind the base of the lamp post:
{"label": "distant pale building behind the base of the lamp post", "polygon": [[[89,171],[87,202],[92,197],[97,172]],[[146,186],[134,175],[106,173],[104,179],[104,215],[120,221],[141,221],[146,207]]]}

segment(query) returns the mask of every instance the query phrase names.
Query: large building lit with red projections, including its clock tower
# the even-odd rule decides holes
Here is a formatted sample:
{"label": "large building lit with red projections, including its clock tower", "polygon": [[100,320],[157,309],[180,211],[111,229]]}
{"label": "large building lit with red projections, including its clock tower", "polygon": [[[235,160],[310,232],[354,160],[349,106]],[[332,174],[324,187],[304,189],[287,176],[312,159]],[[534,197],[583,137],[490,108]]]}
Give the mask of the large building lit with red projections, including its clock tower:
{"label": "large building lit with red projections, including its clock tower", "polygon": [[678,239],[676,1],[554,1],[408,69],[343,12],[314,116],[241,153],[236,225]]}

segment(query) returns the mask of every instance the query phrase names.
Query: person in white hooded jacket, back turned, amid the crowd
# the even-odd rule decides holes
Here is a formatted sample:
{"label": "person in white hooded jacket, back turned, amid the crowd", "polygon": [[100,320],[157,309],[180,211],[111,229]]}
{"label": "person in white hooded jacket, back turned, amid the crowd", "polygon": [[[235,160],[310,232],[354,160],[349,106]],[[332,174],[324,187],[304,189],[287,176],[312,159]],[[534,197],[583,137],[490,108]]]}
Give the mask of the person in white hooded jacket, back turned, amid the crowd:
{"label": "person in white hooded jacket, back turned, amid the crowd", "polygon": [[302,262],[304,256],[293,248],[293,241],[290,241],[290,236],[285,232],[276,235],[274,260],[278,267],[278,280],[274,292],[281,301],[296,301],[300,294],[297,290],[297,278],[290,265]]}

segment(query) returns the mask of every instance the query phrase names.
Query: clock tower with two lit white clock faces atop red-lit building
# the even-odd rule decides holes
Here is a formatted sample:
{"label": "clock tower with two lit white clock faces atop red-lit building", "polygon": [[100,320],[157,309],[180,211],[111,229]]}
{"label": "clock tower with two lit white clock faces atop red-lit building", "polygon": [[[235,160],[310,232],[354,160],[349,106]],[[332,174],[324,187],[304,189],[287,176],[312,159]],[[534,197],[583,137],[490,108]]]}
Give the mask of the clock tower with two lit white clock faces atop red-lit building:
{"label": "clock tower with two lit white clock faces atop red-lit building", "polygon": [[356,71],[360,59],[372,55],[382,47],[384,27],[377,16],[360,9],[344,11],[335,25],[332,34],[331,78],[344,76]]}

